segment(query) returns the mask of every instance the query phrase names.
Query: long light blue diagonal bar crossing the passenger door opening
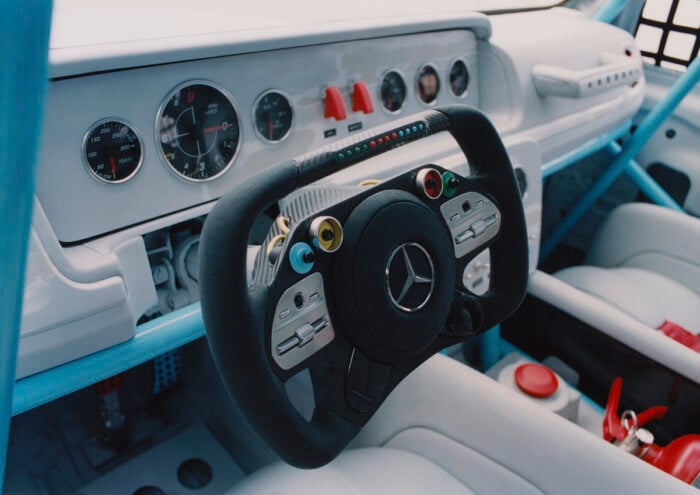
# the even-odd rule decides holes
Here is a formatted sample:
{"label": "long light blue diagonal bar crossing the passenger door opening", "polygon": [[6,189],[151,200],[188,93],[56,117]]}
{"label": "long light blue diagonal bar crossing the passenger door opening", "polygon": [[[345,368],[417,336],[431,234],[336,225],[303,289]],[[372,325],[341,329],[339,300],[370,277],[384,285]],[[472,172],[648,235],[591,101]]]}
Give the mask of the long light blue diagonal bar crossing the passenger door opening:
{"label": "long light blue diagonal bar crossing the passenger door opening", "polygon": [[632,160],[644,147],[649,138],[659,129],[664,120],[676,109],[678,104],[700,80],[700,58],[695,58],[661,100],[639,123],[634,134],[627,140],[615,160],[603,172],[598,180],[583,195],[578,204],[564,217],[557,228],[543,243],[540,259],[549,256],[554,248],[569,233],[588,209],[603,195],[613,182],[628,168]]}

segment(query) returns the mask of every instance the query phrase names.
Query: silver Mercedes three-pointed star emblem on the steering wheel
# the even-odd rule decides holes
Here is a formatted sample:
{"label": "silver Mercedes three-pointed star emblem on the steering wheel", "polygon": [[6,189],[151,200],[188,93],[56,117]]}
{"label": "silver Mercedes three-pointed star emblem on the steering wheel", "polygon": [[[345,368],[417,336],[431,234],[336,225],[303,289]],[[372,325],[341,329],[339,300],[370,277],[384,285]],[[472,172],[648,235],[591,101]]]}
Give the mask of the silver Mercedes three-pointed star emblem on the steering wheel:
{"label": "silver Mercedes three-pointed star emblem on the steering wheel", "polygon": [[435,267],[430,254],[415,242],[394,249],[386,265],[386,285],[394,306],[406,313],[428,304],[435,287]]}

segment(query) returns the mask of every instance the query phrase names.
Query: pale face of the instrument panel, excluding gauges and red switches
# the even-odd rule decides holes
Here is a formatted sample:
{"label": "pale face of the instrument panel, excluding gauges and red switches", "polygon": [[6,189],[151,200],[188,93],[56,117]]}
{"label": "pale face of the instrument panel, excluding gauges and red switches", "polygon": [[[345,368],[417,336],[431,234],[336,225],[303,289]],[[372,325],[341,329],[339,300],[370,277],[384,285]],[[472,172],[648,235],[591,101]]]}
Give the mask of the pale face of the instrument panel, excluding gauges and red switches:
{"label": "pale face of the instrument panel, excluding gauges and red switches", "polygon": [[[465,60],[470,71],[469,89],[461,98],[451,93],[447,83],[450,64],[457,58]],[[470,31],[301,47],[54,81],[47,99],[37,196],[62,242],[91,238],[214,200],[261,167],[347,137],[353,124],[369,128],[428,108],[415,88],[417,71],[425,63],[432,64],[441,79],[434,105],[478,105],[476,38]],[[398,114],[383,111],[379,101],[380,79],[389,69],[405,76],[408,89]],[[241,145],[233,167],[201,184],[185,182],[168,170],[154,135],[161,102],[174,87],[195,79],[212,81],[230,93],[241,122]],[[358,80],[367,84],[374,101],[369,115],[350,110],[351,82]],[[337,86],[343,94],[346,120],[324,119],[321,96],[327,85]],[[289,95],[295,112],[290,135],[277,144],[262,140],[252,122],[255,100],[269,89]],[[100,183],[83,166],[83,136],[107,117],[131,123],[144,144],[143,166],[122,184]],[[324,137],[330,130],[335,135]]]}

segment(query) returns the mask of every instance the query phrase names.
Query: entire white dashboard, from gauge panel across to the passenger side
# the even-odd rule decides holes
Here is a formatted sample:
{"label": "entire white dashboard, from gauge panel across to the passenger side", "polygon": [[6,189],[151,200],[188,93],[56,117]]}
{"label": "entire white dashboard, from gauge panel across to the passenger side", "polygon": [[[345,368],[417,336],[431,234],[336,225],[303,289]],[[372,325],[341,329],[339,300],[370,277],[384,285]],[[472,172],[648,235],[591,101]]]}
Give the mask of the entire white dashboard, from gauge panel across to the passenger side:
{"label": "entire white dashboard, from gauge panel across to the passenger side", "polygon": [[[109,34],[102,44],[79,45],[58,26],[17,377],[129,341],[138,324],[196,304],[201,224],[233,184],[427,108],[466,104],[494,123],[521,184],[534,270],[542,167],[625,125],[644,85],[635,76],[585,98],[543,95],[533,69],[587,70],[609,52],[641,69],[641,57],[628,34],[566,9],[487,17],[443,3],[370,20],[316,14],[303,30],[280,16],[277,26],[247,19],[217,32],[228,12],[209,33]],[[315,186],[427,163],[469,173],[454,141],[436,135]],[[464,280],[486,290],[488,274],[484,252]]]}

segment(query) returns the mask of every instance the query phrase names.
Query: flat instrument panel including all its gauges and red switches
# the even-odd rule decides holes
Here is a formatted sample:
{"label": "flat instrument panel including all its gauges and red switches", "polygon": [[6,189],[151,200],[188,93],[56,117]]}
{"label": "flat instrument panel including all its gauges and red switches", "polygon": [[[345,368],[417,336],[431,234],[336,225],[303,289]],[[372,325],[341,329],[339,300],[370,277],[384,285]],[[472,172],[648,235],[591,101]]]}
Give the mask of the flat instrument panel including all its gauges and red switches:
{"label": "flat instrument panel including all its gauges and red switches", "polygon": [[476,106],[477,67],[462,30],[56,81],[37,195],[58,239],[82,241],[212,201],[261,167],[398,116]]}

